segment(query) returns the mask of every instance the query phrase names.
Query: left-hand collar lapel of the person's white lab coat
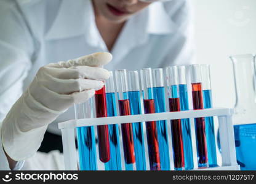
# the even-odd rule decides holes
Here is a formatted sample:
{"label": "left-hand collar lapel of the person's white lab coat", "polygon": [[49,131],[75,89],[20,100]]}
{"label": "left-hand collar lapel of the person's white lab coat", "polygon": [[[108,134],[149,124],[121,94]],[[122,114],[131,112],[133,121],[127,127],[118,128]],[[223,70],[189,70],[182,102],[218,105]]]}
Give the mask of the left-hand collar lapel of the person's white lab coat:
{"label": "left-hand collar lapel of the person's white lab coat", "polygon": [[[70,12],[71,10],[76,10]],[[58,15],[49,31],[46,40],[66,39],[74,36],[85,36],[87,44],[92,47],[101,45],[100,35],[95,25],[94,10],[91,1],[62,1]]]}

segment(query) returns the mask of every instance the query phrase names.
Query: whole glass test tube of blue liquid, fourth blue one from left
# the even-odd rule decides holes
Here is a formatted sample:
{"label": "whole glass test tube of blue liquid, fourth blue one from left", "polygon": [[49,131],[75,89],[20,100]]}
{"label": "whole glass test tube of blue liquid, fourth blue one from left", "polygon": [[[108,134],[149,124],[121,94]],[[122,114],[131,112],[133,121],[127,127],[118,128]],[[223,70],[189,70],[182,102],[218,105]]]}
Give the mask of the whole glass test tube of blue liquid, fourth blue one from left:
{"label": "whole glass test tube of blue liquid, fourth blue one from left", "polygon": [[[166,93],[164,89],[164,74],[162,68],[153,69],[153,93],[156,113],[166,112]],[[170,155],[167,136],[167,121],[156,121],[158,129],[159,154],[161,170],[170,170]]]}

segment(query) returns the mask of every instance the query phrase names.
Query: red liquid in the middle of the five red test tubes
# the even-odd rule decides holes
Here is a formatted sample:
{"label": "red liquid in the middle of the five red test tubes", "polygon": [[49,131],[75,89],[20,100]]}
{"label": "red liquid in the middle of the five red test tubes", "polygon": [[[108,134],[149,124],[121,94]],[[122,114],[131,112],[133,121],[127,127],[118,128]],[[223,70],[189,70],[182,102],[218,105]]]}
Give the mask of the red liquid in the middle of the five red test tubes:
{"label": "red liquid in the middle of the five red test tubes", "polygon": [[[154,100],[145,99],[144,109],[145,113],[155,113]],[[148,156],[150,158],[150,170],[159,171],[161,170],[161,166],[156,121],[146,122],[146,138],[148,140]]]}

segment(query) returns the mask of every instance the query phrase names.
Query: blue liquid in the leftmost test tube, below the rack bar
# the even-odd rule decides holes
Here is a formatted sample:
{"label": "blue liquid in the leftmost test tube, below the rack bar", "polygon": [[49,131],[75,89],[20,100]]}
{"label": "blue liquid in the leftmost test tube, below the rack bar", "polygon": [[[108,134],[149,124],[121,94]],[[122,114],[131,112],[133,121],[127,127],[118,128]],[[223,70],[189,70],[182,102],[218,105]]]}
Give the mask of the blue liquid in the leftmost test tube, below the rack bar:
{"label": "blue liquid in the leftmost test tube, below the rack bar", "polygon": [[96,171],[97,156],[94,127],[79,127],[78,133],[78,151],[81,171]]}

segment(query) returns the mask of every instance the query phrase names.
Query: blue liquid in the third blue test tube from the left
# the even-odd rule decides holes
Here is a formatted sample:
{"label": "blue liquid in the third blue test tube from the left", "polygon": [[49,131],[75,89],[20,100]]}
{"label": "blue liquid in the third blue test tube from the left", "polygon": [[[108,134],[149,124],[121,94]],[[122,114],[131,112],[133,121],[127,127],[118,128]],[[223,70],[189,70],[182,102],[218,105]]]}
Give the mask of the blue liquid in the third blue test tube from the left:
{"label": "blue liquid in the third blue test tube from the left", "polygon": [[[142,107],[140,102],[140,91],[129,91],[130,111],[132,115],[142,114]],[[134,150],[136,168],[139,171],[146,170],[146,156],[145,145],[143,137],[142,122],[132,123],[132,129],[134,132]]]}

